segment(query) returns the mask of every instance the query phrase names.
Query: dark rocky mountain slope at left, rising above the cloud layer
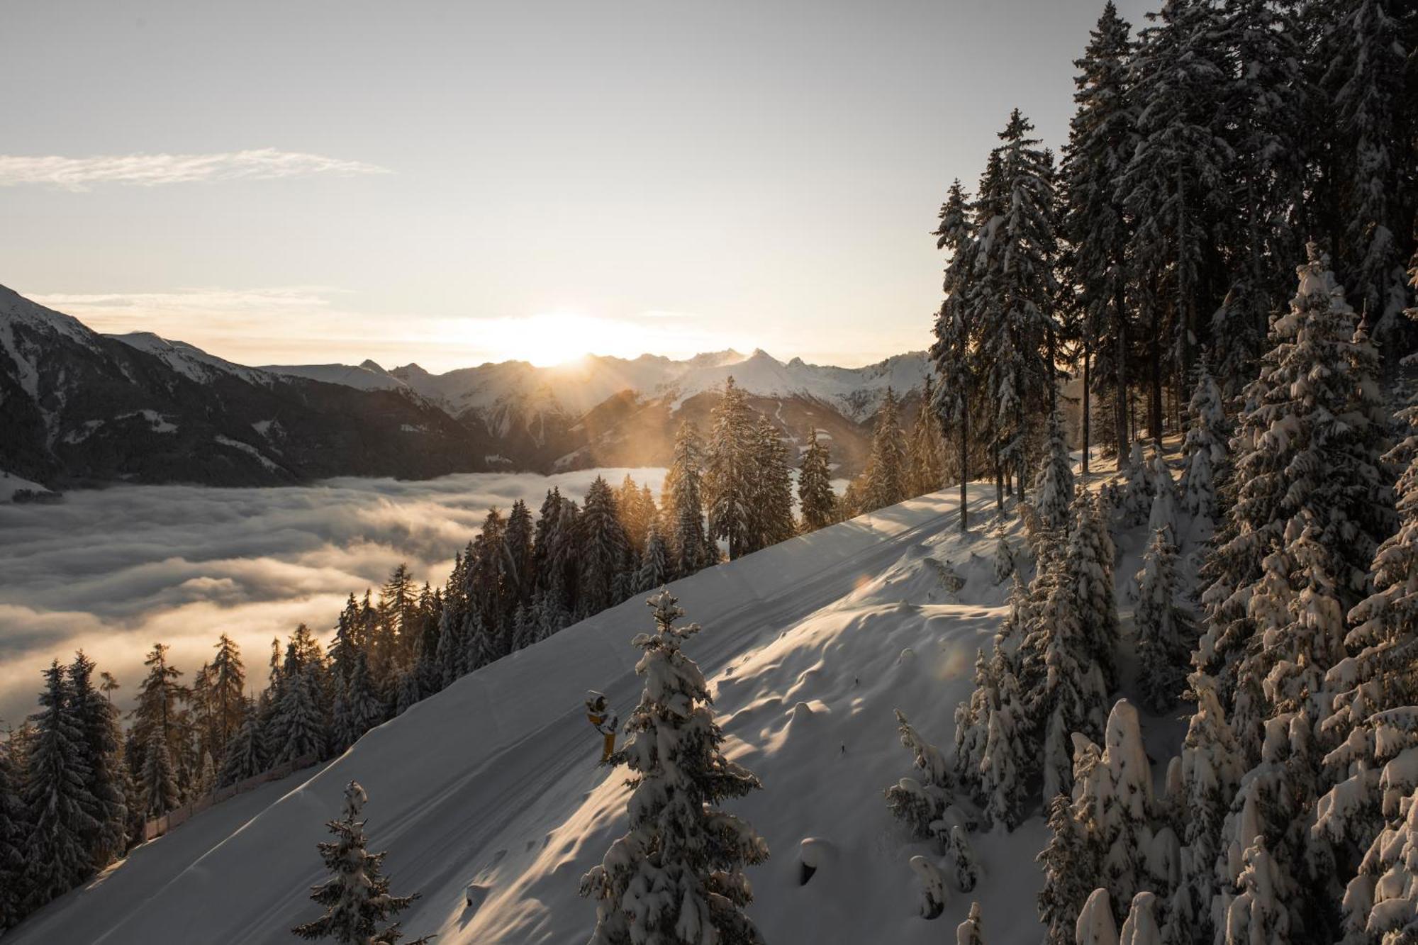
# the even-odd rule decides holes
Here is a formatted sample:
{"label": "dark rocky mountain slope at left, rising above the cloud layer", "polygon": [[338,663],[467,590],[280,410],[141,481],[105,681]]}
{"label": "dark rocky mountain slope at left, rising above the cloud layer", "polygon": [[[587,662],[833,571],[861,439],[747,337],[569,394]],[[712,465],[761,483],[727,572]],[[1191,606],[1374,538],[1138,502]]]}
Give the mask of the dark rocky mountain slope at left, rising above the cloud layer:
{"label": "dark rocky mountain slope at left, rising above the cloud layer", "polygon": [[285,377],[150,333],[108,338],[0,287],[0,468],[47,487],[271,485],[485,468],[421,397]]}

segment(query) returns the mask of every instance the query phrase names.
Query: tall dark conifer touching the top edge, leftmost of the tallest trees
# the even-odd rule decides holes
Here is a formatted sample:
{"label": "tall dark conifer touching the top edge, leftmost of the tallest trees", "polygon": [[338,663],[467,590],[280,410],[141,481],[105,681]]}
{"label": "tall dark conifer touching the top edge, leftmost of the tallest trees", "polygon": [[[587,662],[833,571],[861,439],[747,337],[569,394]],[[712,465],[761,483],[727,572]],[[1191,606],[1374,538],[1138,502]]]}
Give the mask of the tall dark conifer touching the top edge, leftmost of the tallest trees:
{"label": "tall dark conifer touching the top edge, leftmost of the tallest trees", "polygon": [[[1117,179],[1137,145],[1137,115],[1127,64],[1130,26],[1109,0],[1089,34],[1083,57],[1073,61],[1078,111],[1069,122],[1061,182],[1061,230],[1071,245],[1069,280],[1078,287],[1083,321],[1083,380],[1112,392],[1112,438],[1119,467],[1127,457],[1127,385],[1134,329],[1127,305],[1132,223],[1117,193]],[[1092,363],[1090,363],[1092,360]]]}

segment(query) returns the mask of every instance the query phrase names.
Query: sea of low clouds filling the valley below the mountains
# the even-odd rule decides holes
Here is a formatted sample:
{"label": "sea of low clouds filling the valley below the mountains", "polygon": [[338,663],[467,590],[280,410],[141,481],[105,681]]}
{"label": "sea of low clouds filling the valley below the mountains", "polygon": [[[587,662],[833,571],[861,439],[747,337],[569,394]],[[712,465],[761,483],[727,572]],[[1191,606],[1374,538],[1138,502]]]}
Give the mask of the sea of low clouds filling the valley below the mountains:
{"label": "sea of low clouds filling the valley below the mountains", "polygon": [[661,468],[138,485],[0,504],[0,719],[18,724],[50,660],[81,647],[118,677],[125,708],[155,641],[190,680],[227,633],[248,688],[259,688],[272,637],[306,623],[328,640],[345,597],[377,590],[400,562],[441,586],[489,507],[506,512],[520,498],[535,514],[553,485],[580,501],[597,475],[618,485],[627,472],[658,498]]}

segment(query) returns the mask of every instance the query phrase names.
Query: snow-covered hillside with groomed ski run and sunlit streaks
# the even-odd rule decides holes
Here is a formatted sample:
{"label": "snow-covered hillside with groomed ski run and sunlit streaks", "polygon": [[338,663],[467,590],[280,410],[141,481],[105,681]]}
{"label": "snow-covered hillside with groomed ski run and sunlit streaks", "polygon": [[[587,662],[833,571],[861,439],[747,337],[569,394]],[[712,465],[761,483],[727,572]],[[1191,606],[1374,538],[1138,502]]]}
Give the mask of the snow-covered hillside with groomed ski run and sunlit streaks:
{"label": "snow-covered hillside with groomed ski run and sunlit streaks", "polygon": [[[1031,866],[1035,820],[977,836],[986,880],[936,921],[916,915],[908,861],[929,853],[888,816],[882,789],[910,775],[893,708],[936,742],[994,633],[987,519],[993,488],[971,495],[977,529],[954,529],[954,492],[926,497],[777,545],[674,585],[703,624],[686,651],[712,678],[727,751],[764,790],[735,802],[773,856],[750,868],[750,914],[776,945],[940,942],[980,898],[991,941],[1038,935]],[[946,590],[940,565],[966,578]],[[285,942],[316,914],[316,841],[343,785],[370,795],[372,841],[389,849],[396,891],[423,898],[404,917],[441,945],[584,941],[593,907],[581,873],[624,829],[625,789],[594,766],[598,738],[580,712],[605,691],[624,718],[640,692],[630,637],[649,627],[640,600],[604,612],[474,673],[367,734],[313,776],[221,805],[138,849],[88,888],[27,919],[20,944]],[[825,846],[798,884],[798,847]],[[476,907],[465,892],[479,887]]]}

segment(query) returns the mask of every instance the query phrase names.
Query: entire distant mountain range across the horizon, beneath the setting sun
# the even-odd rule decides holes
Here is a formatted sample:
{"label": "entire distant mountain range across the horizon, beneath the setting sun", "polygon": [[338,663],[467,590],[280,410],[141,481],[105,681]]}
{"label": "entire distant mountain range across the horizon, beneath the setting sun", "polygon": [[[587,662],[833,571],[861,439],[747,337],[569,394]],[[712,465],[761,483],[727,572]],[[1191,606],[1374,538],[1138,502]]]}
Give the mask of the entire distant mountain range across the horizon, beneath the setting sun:
{"label": "entire distant mountain range across the horizon, beneath the setting sun", "polygon": [[682,420],[708,431],[732,375],[784,436],[861,468],[886,387],[908,411],[923,352],[865,368],[735,350],[685,360],[235,365],[150,332],[99,335],[0,287],[0,470],[45,485],[271,485],[332,475],[664,465]]}

